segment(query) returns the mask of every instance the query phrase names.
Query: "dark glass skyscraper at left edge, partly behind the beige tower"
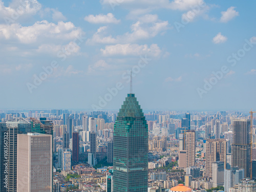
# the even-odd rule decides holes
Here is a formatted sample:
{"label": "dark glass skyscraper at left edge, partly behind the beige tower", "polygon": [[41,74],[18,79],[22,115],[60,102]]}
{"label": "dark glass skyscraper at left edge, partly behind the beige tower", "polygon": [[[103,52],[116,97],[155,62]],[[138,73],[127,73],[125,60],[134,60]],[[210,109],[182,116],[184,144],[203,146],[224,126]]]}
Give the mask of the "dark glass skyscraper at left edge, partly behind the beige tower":
{"label": "dark glass skyscraper at left edge, partly behind the beige tower", "polygon": [[[5,166],[1,163],[1,191],[17,191],[17,134],[31,132],[31,122],[24,118],[13,118],[0,123],[1,129],[1,162],[9,160],[8,163],[8,189],[4,184]],[[7,142],[6,142],[7,141]],[[4,155],[4,148],[7,145],[8,155]]]}

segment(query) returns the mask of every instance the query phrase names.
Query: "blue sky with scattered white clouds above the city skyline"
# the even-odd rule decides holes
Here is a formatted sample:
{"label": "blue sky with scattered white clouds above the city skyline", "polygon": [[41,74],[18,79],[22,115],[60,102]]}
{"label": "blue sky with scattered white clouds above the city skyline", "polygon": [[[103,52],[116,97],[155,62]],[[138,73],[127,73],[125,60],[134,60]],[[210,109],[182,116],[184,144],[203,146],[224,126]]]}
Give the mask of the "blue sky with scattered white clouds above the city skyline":
{"label": "blue sky with scattered white clouds above the city skyline", "polygon": [[0,0],[0,110],[256,109],[255,6]]}

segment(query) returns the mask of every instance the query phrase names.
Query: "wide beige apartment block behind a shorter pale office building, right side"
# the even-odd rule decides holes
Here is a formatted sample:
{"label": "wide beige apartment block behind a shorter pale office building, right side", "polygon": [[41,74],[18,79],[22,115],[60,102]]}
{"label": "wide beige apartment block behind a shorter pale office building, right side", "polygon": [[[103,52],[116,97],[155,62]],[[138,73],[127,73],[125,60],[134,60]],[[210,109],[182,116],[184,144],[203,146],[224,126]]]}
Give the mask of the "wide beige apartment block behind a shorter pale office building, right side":
{"label": "wide beige apartment block behind a shorter pale office building, right side", "polygon": [[207,139],[205,147],[205,176],[212,177],[212,163],[215,161],[223,161],[226,168],[226,140]]}

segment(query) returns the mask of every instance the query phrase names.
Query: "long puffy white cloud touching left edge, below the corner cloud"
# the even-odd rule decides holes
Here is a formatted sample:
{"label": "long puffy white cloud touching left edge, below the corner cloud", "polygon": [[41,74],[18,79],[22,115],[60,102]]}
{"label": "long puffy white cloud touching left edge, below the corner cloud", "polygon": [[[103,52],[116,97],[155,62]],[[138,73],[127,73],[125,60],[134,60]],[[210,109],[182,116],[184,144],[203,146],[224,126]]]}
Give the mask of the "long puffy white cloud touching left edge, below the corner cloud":
{"label": "long puffy white cloud touching left edge, below the corner cloud", "polygon": [[32,26],[23,27],[19,24],[0,25],[0,41],[4,39],[17,39],[23,44],[44,42],[52,40],[73,40],[82,33],[80,28],[76,28],[71,22],[49,23],[47,20],[36,22]]}

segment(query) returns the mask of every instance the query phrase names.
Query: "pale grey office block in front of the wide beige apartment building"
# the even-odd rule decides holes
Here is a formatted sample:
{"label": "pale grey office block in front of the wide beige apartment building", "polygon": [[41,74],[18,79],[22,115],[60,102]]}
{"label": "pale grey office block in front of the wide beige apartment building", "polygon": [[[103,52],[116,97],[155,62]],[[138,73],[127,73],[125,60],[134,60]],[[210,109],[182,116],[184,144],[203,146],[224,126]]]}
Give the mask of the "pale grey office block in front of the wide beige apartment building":
{"label": "pale grey office block in front of the wide beige apartment building", "polygon": [[214,187],[224,185],[224,162],[215,161],[212,163],[212,182]]}

